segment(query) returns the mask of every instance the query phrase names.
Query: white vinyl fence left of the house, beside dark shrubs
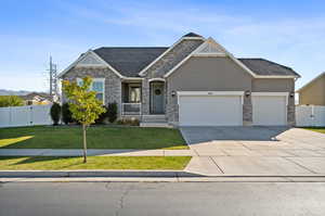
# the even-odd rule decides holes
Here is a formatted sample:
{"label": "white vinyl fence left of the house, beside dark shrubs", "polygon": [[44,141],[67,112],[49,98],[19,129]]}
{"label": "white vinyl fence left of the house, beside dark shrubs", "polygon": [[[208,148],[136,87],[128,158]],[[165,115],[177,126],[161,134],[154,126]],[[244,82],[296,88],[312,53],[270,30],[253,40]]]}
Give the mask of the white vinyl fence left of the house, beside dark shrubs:
{"label": "white vinyl fence left of the house, beside dark shrubs", "polygon": [[0,127],[52,125],[50,105],[0,107]]}

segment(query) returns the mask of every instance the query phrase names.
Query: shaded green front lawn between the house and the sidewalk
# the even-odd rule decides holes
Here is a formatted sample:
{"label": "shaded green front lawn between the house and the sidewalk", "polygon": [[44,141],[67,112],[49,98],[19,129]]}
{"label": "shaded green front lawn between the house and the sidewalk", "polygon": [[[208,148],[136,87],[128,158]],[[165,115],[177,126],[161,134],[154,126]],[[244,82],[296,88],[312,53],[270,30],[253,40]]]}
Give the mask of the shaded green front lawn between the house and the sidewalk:
{"label": "shaded green front lawn between the house and the sidewalk", "polygon": [[[178,129],[96,126],[87,130],[89,149],[188,149]],[[78,126],[0,129],[0,148],[81,149]]]}

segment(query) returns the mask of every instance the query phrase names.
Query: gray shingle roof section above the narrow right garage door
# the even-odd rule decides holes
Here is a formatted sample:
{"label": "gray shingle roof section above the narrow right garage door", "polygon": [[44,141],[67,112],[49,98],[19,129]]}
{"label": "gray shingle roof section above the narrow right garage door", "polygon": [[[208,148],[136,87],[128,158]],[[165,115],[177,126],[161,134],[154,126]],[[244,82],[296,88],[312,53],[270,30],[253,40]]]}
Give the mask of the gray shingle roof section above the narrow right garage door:
{"label": "gray shingle roof section above the narrow right garage door", "polygon": [[238,59],[257,75],[264,76],[298,76],[290,67],[264,59]]}

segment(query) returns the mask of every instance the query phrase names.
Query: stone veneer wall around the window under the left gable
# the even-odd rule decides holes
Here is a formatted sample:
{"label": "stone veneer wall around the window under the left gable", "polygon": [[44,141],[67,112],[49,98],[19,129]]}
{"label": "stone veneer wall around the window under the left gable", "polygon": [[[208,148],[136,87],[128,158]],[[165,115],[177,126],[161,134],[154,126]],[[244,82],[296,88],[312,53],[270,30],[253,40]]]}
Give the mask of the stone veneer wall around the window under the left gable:
{"label": "stone veneer wall around the window under the left gable", "polygon": [[[105,78],[105,104],[116,102],[118,115],[121,111],[121,79],[107,67],[74,67],[63,75],[63,79],[76,80],[84,76],[93,78]],[[63,94],[63,101],[65,101]]]}

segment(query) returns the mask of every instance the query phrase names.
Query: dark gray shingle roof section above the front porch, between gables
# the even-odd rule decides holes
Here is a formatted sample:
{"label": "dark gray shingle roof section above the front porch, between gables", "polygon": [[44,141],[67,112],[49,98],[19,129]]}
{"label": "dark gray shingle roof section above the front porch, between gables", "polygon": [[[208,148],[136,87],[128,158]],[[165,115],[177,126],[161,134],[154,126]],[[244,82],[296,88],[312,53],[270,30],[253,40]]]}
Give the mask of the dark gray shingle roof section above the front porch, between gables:
{"label": "dark gray shingle roof section above the front porch, between gables", "polygon": [[168,47],[99,48],[94,52],[126,77],[138,77],[141,69]]}

